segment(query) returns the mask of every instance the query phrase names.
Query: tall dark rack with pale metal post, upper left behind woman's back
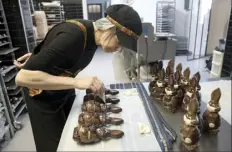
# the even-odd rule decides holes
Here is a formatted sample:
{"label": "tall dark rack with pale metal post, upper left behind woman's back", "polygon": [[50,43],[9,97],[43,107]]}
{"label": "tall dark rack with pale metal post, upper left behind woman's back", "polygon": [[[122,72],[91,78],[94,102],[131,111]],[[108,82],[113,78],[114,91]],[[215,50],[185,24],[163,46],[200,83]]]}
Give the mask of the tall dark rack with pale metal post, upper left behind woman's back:
{"label": "tall dark rack with pale metal post, upper left behind woman's back", "polygon": [[31,6],[28,0],[3,1],[7,24],[12,37],[12,43],[19,47],[16,58],[32,52],[36,46],[33,31]]}

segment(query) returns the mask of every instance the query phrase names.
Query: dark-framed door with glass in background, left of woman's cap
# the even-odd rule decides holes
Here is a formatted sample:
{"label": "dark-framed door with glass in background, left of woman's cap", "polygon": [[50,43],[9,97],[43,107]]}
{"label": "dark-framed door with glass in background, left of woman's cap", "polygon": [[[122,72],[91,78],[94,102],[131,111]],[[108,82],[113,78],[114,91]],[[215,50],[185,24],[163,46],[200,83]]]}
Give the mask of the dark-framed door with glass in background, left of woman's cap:
{"label": "dark-framed door with glass in background, left of woman's cap", "polygon": [[96,21],[102,18],[102,4],[88,4],[88,19]]}

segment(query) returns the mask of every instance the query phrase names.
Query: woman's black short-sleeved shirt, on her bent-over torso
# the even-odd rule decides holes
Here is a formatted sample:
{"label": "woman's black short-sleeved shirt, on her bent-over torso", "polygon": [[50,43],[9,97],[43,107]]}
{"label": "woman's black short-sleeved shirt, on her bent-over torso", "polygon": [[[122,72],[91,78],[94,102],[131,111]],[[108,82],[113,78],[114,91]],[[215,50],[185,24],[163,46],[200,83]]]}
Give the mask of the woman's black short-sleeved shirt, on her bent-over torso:
{"label": "woman's black short-sleeved shirt, on her bent-over torso", "polygon": [[[60,75],[56,68],[74,71],[84,69],[92,60],[97,49],[94,27],[91,21],[79,20],[87,30],[87,41],[84,49],[84,32],[74,23],[61,23],[54,26],[33,51],[23,69],[43,71]],[[76,66],[77,65],[77,66]],[[54,99],[64,96],[69,90],[43,91],[36,95],[38,99]]]}

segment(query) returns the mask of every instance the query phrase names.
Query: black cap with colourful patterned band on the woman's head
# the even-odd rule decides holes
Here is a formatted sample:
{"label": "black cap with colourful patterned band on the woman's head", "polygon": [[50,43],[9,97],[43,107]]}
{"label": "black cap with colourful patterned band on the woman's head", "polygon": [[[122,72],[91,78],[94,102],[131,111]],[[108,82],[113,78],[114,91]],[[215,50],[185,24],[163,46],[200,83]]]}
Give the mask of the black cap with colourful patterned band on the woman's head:
{"label": "black cap with colourful patterned band on the woman's head", "polygon": [[128,5],[111,5],[107,8],[107,18],[116,25],[116,34],[123,47],[137,52],[137,40],[142,34],[139,14]]}

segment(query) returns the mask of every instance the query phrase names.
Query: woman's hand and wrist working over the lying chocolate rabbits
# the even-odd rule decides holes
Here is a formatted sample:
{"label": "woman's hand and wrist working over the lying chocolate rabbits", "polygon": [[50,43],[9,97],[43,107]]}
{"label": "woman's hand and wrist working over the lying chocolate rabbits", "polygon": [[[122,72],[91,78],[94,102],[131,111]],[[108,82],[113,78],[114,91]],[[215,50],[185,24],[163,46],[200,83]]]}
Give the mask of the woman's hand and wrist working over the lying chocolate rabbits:
{"label": "woman's hand and wrist working over the lying chocolate rabbits", "polygon": [[102,93],[105,91],[104,84],[97,77],[76,78],[77,89],[91,89],[94,93]]}

